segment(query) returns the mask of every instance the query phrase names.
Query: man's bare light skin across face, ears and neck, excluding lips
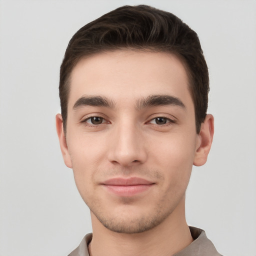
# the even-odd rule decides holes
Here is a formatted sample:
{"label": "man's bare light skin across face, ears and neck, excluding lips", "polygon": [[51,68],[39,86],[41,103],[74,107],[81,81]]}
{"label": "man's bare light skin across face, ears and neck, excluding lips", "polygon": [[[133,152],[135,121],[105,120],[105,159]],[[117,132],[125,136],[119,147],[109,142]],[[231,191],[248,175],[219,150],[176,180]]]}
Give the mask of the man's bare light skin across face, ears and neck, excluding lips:
{"label": "man's bare light skin across face, ears and neck, excluding lips", "polygon": [[[186,247],[192,237],[185,190],[192,165],[206,162],[213,117],[206,116],[197,134],[182,62],[163,52],[98,53],[81,59],[70,81],[66,134],[60,114],[56,127],[64,162],[91,211],[90,255],[172,255]],[[143,105],[151,95],[174,97],[183,106]],[[98,96],[108,105],[78,102]],[[104,184],[130,177],[150,185],[122,195]]]}

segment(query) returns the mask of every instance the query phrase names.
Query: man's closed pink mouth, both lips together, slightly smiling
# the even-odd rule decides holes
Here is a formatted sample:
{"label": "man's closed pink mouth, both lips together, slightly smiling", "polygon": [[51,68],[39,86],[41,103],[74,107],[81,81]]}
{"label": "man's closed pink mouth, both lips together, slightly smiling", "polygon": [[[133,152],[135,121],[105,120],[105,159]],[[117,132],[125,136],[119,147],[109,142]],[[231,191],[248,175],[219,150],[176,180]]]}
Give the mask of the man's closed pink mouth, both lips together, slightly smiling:
{"label": "man's closed pink mouth, both lips together, slightly smiling", "polygon": [[101,183],[109,192],[118,196],[132,196],[143,193],[155,183],[139,177],[111,178]]}

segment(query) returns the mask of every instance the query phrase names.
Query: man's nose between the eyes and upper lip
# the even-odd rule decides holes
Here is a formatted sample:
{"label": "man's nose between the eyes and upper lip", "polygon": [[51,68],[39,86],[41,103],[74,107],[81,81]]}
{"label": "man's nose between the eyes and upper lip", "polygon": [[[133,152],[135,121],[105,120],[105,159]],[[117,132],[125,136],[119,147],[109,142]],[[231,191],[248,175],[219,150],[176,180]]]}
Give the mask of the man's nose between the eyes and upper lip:
{"label": "man's nose between the eyes and upper lip", "polygon": [[145,141],[141,129],[135,124],[116,125],[109,141],[108,160],[111,163],[124,167],[146,161]]}

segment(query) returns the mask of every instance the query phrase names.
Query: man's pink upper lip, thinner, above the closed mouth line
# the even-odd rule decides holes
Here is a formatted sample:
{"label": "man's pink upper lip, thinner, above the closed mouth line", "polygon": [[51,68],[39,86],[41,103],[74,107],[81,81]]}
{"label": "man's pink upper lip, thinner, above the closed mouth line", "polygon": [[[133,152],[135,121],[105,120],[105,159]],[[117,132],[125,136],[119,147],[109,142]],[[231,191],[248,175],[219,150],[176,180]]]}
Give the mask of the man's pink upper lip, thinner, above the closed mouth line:
{"label": "man's pink upper lip, thinner, above the closed mouth line", "polygon": [[110,178],[102,182],[104,185],[115,185],[115,186],[132,186],[132,185],[150,185],[154,182],[146,180],[140,177],[129,177],[129,178]]}

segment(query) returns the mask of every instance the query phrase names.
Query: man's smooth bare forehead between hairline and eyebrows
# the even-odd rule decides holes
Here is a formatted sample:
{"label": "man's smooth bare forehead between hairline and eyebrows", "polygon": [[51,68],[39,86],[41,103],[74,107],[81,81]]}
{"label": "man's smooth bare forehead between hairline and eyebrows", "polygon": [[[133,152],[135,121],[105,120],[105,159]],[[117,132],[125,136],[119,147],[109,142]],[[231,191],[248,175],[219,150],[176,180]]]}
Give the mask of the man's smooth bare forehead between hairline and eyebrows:
{"label": "man's smooth bare forehead between hairline and eyebrows", "polygon": [[188,86],[184,65],[174,54],[107,51],[85,57],[73,68],[68,108],[82,95],[131,103],[139,97],[169,94],[191,102]]}

